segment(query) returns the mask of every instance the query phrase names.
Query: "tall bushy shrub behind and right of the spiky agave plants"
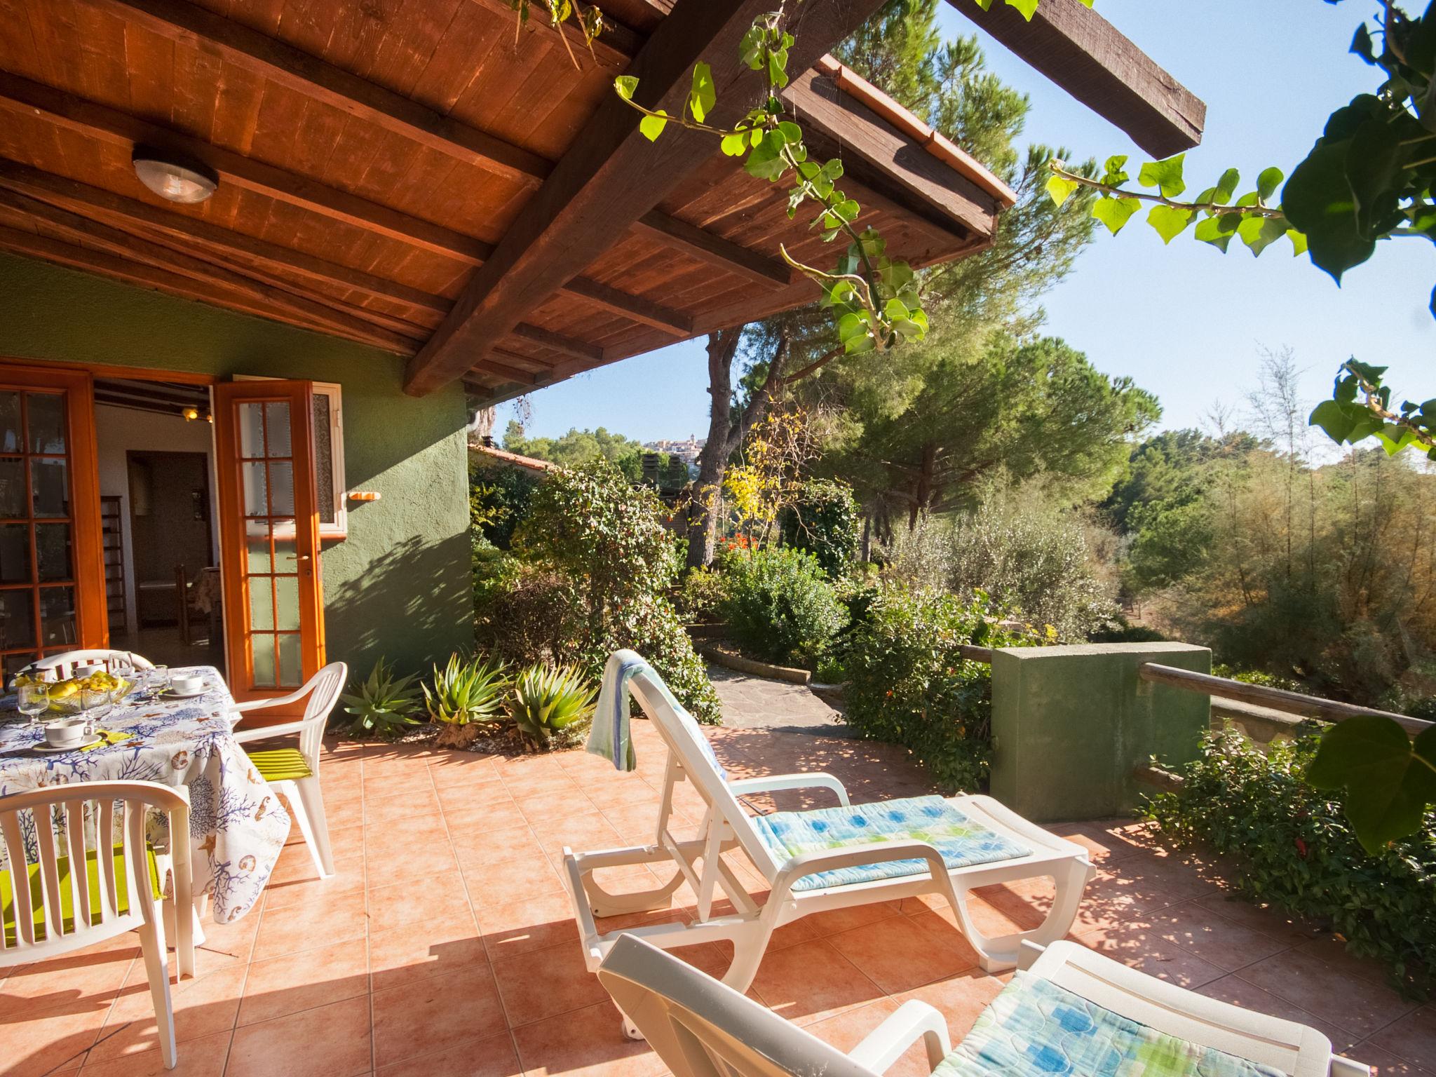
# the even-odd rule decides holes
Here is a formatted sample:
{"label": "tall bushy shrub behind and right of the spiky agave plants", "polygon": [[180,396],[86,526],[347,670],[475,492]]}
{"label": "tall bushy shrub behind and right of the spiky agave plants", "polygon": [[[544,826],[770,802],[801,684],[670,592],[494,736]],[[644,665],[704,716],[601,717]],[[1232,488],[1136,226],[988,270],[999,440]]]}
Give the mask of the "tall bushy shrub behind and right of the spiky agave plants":
{"label": "tall bushy shrub behind and right of the spiky agave plants", "polygon": [[534,491],[514,546],[566,596],[554,661],[597,679],[609,653],[632,648],[694,718],[719,721],[718,694],[666,597],[678,560],[651,490],[629,485],[606,460],[556,471]]}

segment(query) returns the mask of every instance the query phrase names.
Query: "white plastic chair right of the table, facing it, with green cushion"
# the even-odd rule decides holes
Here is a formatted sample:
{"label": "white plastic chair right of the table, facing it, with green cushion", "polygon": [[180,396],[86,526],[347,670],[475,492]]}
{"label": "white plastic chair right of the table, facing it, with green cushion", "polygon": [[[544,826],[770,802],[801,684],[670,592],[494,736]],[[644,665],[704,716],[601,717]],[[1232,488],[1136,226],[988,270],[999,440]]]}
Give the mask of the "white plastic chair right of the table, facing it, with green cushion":
{"label": "white plastic chair right of the table, facing it, with green cushion", "polygon": [[297,704],[307,696],[304,717],[299,721],[236,732],[234,740],[248,744],[286,737],[292,732],[299,734],[297,748],[251,751],[248,757],[260,777],[277,787],[293,808],[294,821],[299,823],[299,831],[304,836],[304,844],[309,846],[309,854],[314,859],[314,869],[320,879],[327,879],[335,873],[335,857],[329,849],[325,796],[319,788],[319,757],[323,750],[325,722],[329,719],[329,712],[335,709],[335,704],[339,702],[339,692],[343,691],[348,679],[349,666],[343,662],[330,662],[309,678],[309,682],[297,692],[271,699],[251,699],[237,704],[234,708],[243,721],[243,715],[248,711]]}

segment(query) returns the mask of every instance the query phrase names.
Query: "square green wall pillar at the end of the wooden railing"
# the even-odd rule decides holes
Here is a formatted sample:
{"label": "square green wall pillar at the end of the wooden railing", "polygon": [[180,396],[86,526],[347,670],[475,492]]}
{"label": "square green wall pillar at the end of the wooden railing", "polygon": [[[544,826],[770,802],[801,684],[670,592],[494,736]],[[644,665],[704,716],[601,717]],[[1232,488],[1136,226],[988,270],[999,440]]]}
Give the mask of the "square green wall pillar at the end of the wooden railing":
{"label": "square green wall pillar at the end of the wooden railing", "polygon": [[1188,643],[1083,643],[992,652],[992,796],[1035,821],[1133,811],[1133,768],[1190,763],[1211,728],[1206,695],[1137,676],[1143,662],[1212,671]]}

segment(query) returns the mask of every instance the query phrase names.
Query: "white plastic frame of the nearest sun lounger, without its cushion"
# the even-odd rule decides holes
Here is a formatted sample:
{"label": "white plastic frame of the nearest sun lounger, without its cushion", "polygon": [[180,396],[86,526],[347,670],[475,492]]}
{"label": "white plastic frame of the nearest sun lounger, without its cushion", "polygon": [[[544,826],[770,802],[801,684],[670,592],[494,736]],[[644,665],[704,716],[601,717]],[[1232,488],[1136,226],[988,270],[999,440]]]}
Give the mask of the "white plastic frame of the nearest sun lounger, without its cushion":
{"label": "white plastic frame of the nearest sun lounger, without its cushion", "polygon": [[[1212,1047],[1292,1077],[1369,1077],[1331,1054],[1314,1028],[1205,998],[1071,942],[1045,952],[1022,945],[1027,975],[1188,1043]],[[599,966],[599,982],[642,1031],[673,1077],[879,1077],[919,1040],[928,1068],[951,1054],[942,1014],[909,999],[843,1053],[760,1002],[632,935]]]}

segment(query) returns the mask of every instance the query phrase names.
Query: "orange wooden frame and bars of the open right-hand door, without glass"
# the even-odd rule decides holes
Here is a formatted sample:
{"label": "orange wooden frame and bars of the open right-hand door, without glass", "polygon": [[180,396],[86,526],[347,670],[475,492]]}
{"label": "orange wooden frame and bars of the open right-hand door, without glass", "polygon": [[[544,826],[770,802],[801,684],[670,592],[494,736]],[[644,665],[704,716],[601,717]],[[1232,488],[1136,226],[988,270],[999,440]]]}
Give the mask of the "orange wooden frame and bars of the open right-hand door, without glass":
{"label": "orange wooden frame and bars of the open right-hand door, without glass", "polygon": [[[220,569],[224,579],[224,622],[225,645],[228,659],[230,689],[237,699],[258,699],[266,696],[284,695],[297,685],[263,685],[256,684],[254,639],[270,635],[263,628],[256,629],[251,623],[250,596],[253,587],[269,586],[270,610],[277,617],[279,595],[277,580],[293,576],[299,590],[299,642],[300,642],[300,682],[313,676],[325,665],[325,617],[323,593],[319,572],[319,494],[314,480],[314,434],[313,434],[313,388],[303,381],[243,381],[220,382],[214,386],[214,471],[220,501]],[[273,452],[266,448],[260,457],[244,457],[241,452],[240,419],[244,405],[286,404],[289,406],[290,445],[287,455]],[[269,426],[266,419],[266,438]],[[243,468],[260,468],[266,475],[273,474],[276,465],[290,464],[293,475],[293,543],[294,543],[294,572],[279,573],[280,554],[277,540],[286,543],[290,537],[289,524],[276,518],[290,518],[287,513],[276,513],[271,504],[273,482],[266,480],[266,505],[263,513],[257,504],[248,505],[246,513],[246,490]],[[250,569],[250,530],[264,530],[264,550],[270,559],[269,573],[254,573]],[[283,681],[280,668],[280,636],[279,620],[274,625],[274,673],[276,681]],[[276,709],[273,714],[280,714]]]}

